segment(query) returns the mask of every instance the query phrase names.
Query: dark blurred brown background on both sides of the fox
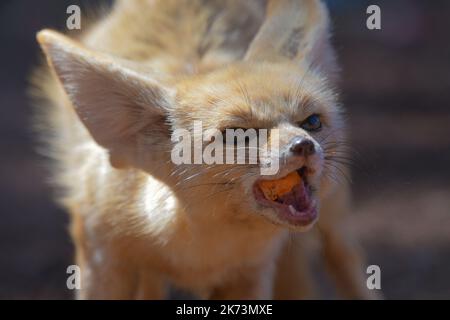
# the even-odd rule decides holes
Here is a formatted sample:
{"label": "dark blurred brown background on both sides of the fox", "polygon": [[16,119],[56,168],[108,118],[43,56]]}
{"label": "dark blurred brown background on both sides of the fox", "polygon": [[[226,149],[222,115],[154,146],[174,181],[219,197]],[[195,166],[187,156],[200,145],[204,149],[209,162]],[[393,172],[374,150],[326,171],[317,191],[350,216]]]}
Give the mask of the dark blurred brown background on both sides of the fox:
{"label": "dark blurred brown background on both sides of the fox", "polygon": [[[68,220],[34,151],[25,91],[35,32],[97,2],[0,3],[0,298],[72,297]],[[355,149],[351,227],[386,298],[450,298],[450,2],[328,4]],[[365,26],[369,4],[381,7],[381,31]]]}

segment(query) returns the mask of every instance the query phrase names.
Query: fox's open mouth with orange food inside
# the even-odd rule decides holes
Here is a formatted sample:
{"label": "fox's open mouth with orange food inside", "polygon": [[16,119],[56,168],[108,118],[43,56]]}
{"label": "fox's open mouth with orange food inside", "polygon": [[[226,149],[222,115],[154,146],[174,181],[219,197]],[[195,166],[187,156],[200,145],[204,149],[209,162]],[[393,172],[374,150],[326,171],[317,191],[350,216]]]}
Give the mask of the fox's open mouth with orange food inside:
{"label": "fox's open mouth with orange food inside", "polygon": [[260,179],[253,186],[256,201],[275,209],[279,220],[294,226],[310,226],[317,219],[317,202],[305,175],[306,167],[277,180]]}

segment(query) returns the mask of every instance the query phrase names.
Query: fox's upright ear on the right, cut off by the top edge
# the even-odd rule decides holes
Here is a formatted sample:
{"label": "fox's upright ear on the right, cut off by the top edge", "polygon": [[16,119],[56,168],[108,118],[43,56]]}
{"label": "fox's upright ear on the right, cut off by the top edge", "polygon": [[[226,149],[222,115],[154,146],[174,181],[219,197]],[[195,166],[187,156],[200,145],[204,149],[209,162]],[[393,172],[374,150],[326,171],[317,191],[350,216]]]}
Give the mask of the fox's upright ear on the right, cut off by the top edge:
{"label": "fox's upright ear on the right, cut off by the top edge", "polygon": [[320,0],[269,0],[245,59],[301,60],[320,66],[332,56],[328,10]]}

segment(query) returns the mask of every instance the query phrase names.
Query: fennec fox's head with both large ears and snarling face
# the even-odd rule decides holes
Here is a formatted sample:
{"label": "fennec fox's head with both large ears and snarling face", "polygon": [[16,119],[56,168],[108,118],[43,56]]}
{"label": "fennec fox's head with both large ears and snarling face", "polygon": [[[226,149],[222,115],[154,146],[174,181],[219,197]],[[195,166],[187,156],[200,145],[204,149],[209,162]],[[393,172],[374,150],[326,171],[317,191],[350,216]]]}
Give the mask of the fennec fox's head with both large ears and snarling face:
{"label": "fennec fox's head with both large ears and snarling face", "polygon": [[[345,155],[330,81],[328,16],[320,2],[269,2],[243,59],[182,77],[92,51],[54,31],[41,31],[38,41],[113,167],[143,170],[165,182],[181,203],[204,208],[193,215],[219,208],[230,217],[263,216],[295,230],[317,220],[320,200],[333,189]],[[268,129],[277,140],[269,139],[270,152],[253,164],[175,164],[173,133],[183,129],[195,140],[195,122],[204,132]],[[262,175],[261,167],[274,161],[278,170]],[[292,173],[299,177],[296,183],[273,199],[260,187],[265,180],[283,184]]]}

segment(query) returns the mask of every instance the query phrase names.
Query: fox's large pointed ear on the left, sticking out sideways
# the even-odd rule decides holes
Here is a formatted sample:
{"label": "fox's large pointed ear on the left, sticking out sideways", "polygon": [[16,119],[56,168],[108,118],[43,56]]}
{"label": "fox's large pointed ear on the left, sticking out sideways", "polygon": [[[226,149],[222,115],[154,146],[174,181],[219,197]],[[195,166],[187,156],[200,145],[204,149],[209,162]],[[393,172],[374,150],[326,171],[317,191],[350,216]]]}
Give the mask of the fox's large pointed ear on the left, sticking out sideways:
{"label": "fox's large pointed ear on the left, sticking out sideways", "polygon": [[[141,134],[169,136],[166,117],[174,92],[50,30],[37,35],[49,65],[94,140],[108,149],[116,167],[137,154]],[[161,138],[161,137],[160,137]]]}

